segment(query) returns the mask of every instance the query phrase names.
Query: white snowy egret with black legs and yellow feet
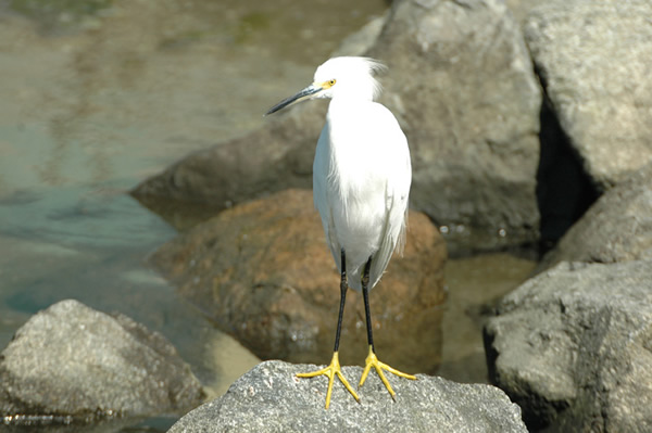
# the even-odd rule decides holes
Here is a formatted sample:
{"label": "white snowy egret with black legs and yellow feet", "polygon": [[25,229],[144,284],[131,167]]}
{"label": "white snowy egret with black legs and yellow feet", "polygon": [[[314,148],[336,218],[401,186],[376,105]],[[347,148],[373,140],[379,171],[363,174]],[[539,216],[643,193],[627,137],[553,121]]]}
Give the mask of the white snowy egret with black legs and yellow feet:
{"label": "white snowy egret with black legs and yellow feet", "polygon": [[275,113],[304,99],[331,100],[317,141],[313,196],[326,241],[341,275],[340,308],[330,365],[298,374],[301,378],[328,377],[326,408],[330,405],[336,375],[360,400],[342,375],[338,358],[349,285],[362,291],[369,346],[359,387],[372,367],[394,399],[396,393],[383,370],[416,379],[378,360],[372,333],[368,292],[383,276],[394,249],[403,247],[412,181],[408,140],[391,112],[374,102],[380,92],[374,74],[383,68],[384,65],[366,58],[330,59],[317,68],[312,85],[267,112]]}

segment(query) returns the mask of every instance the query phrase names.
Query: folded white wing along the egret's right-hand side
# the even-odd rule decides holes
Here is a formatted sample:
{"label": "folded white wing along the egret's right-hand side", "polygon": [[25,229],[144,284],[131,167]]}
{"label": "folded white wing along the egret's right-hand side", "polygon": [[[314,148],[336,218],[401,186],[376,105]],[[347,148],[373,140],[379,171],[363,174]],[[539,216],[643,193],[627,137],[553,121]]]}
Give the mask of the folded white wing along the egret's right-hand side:
{"label": "folded white wing along the egret's right-hand side", "polygon": [[378,251],[372,259],[369,275],[371,286],[374,286],[387,268],[396,247],[403,254],[405,244],[405,228],[408,225],[408,199],[410,184],[412,183],[412,165],[408,141],[401,132],[402,140],[394,145],[396,158],[393,158],[391,175],[388,176],[385,193],[386,221],[384,233]]}

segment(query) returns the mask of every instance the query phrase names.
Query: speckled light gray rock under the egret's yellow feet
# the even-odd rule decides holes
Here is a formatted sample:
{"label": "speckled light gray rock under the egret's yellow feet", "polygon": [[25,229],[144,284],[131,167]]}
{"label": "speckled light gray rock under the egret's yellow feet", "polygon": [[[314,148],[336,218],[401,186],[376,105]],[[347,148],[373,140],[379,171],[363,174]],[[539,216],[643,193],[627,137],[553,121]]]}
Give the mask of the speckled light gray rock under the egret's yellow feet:
{"label": "speckled light gray rock under the egret's yellow feet", "polygon": [[[170,433],[198,432],[526,432],[518,406],[485,384],[459,384],[418,374],[416,381],[388,378],[393,402],[372,372],[356,403],[340,383],[324,409],[327,379],[298,379],[316,366],[267,361],[236,381],[228,392],[181,418]],[[343,367],[349,382],[362,367]]]}

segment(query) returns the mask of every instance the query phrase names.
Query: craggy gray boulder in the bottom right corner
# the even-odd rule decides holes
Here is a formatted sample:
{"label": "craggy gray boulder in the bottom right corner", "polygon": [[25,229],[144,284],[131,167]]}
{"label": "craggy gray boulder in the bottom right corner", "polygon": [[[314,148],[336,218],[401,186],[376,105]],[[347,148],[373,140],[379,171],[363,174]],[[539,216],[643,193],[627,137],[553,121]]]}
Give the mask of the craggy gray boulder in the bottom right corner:
{"label": "craggy gray boulder in the bottom right corner", "polygon": [[652,262],[561,263],[502,301],[485,340],[532,430],[652,431]]}

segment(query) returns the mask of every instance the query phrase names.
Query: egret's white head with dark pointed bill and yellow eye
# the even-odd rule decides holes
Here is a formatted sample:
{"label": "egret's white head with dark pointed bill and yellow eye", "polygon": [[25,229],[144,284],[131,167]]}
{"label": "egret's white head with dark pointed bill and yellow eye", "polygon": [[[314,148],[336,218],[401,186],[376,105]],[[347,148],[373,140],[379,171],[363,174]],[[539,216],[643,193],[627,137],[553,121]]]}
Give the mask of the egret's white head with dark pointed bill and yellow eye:
{"label": "egret's white head with dark pointed bill and yellow eye", "polygon": [[299,93],[280,101],[265,114],[305,99],[353,98],[373,101],[380,93],[374,74],[385,69],[381,63],[368,58],[333,58],[317,67],[313,84]]}

